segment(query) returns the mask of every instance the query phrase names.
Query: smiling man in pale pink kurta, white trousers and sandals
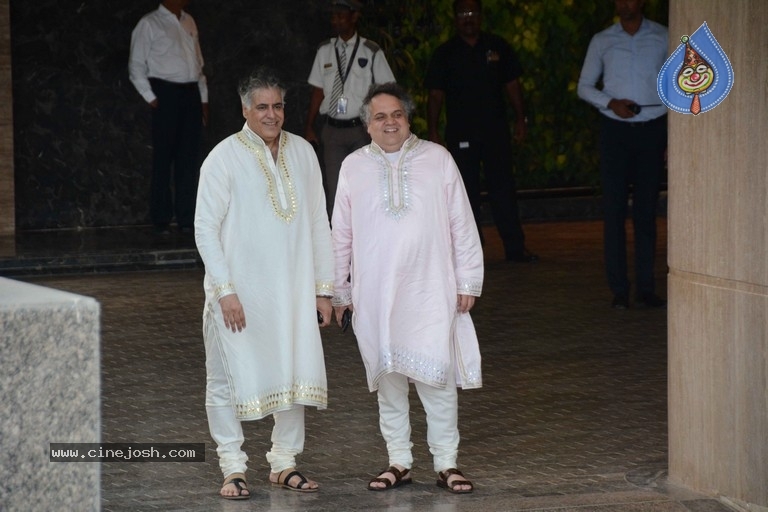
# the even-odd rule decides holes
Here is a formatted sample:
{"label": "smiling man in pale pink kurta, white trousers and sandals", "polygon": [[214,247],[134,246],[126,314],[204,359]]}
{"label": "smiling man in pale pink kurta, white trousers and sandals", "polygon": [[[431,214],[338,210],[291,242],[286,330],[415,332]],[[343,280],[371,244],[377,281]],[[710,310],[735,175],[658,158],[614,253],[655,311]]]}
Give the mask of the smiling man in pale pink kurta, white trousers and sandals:
{"label": "smiling man in pale pink kurta, white trousers and sandals", "polygon": [[483,254],[458,168],[445,148],[410,133],[411,110],[393,83],[372,89],[363,105],[373,142],[341,167],[334,306],[337,319],[344,309],[354,311],[368,386],[378,391],[390,467],[369,489],[411,481],[411,381],[427,413],[438,485],[471,492],[455,469],[456,387],[482,385],[468,311],[482,290]]}

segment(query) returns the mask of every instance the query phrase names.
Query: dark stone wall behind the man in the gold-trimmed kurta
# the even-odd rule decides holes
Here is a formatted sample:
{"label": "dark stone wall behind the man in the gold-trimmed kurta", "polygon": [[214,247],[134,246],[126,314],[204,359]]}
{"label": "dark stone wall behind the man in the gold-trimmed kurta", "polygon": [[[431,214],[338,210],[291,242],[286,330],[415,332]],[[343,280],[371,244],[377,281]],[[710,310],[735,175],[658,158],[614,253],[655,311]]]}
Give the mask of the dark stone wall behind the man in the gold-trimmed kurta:
{"label": "dark stone wall behind the man in the gold-trimmed kurta", "polygon": [[[159,1],[11,0],[16,229],[148,223],[150,111],[128,80],[131,31]],[[288,83],[303,133],[306,79],[330,35],[324,0],[192,0],[210,88],[201,157],[243,123],[238,78]]]}

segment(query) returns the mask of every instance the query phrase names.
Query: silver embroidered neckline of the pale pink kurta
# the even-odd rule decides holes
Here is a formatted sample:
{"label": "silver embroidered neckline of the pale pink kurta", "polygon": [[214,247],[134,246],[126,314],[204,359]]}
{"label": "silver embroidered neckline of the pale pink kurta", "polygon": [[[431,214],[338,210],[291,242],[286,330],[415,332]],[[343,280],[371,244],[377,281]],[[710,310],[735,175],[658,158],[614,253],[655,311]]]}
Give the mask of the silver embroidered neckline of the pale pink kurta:
{"label": "silver embroidered neckline of the pale pink kurta", "polygon": [[411,136],[403,143],[400,149],[400,157],[397,164],[387,158],[385,152],[375,142],[371,142],[366,148],[366,153],[376,160],[381,169],[380,187],[384,210],[393,218],[401,219],[410,210],[411,197],[409,190],[408,172],[415,149],[421,146],[421,140],[416,135]]}

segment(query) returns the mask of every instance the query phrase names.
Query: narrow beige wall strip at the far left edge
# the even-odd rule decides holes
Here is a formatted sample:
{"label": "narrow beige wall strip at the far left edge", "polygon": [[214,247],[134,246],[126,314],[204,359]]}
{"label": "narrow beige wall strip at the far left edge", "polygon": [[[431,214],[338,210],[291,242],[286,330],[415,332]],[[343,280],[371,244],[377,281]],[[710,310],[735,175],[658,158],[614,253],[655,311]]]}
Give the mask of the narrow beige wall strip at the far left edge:
{"label": "narrow beige wall strip at the far left edge", "polygon": [[10,0],[0,0],[0,235],[16,226],[13,186],[13,92]]}

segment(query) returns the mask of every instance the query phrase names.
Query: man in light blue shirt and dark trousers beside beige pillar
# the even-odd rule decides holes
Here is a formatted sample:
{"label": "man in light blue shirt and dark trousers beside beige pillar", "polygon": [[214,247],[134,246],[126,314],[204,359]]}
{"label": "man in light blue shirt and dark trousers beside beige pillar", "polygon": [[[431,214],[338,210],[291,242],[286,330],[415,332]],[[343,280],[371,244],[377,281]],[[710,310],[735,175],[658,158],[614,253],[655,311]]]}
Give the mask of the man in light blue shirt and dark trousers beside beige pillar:
{"label": "man in light blue shirt and dark trousers beside beige pillar", "polygon": [[[614,309],[629,307],[625,223],[632,190],[635,303],[663,308],[656,295],[656,205],[667,147],[667,109],[656,76],[667,58],[667,28],[643,16],[645,0],[615,0],[619,21],[596,34],[579,77],[579,98],[598,109],[605,267]],[[598,83],[602,83],[598,87]]]}

